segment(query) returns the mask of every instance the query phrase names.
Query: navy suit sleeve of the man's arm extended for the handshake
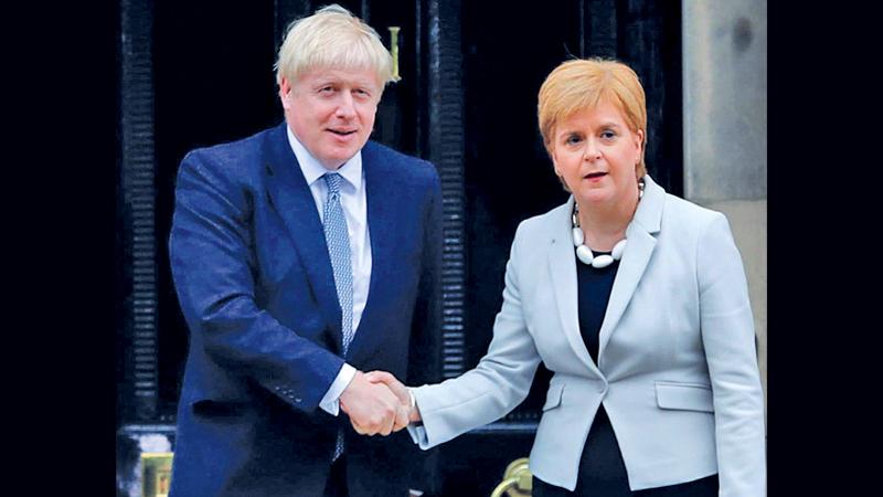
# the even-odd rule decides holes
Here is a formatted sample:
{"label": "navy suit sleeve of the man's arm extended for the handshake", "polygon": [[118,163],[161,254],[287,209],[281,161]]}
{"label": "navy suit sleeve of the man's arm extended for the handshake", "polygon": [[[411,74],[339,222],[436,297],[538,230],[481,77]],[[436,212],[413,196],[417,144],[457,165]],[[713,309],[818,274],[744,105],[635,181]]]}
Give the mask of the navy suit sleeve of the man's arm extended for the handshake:
{"label": "navy suit sleeve of the man's arm extended for the handshake", "polygon": [[222,168],[230,166],[224,160],[198,150],[182,160],[178,175],[169,254],[190,347],[228,374],[312,411],[343,360],[256,304],[254,200],[244,181]]}

